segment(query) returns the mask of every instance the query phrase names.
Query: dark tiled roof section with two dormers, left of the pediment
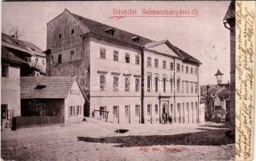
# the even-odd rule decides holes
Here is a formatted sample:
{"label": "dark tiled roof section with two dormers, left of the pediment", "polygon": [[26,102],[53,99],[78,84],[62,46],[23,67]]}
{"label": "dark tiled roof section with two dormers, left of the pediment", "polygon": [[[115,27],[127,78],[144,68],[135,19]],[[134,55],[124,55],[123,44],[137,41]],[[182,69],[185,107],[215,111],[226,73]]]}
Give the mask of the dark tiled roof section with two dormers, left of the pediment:
{"label": "dark tiled roof section with two dormers, left of the pediment", "polygon": [[[126,43],[126,44],[140,46],[140,47],[144,46],[146,43],[154,42],[151,39],[147,39],[140,35],[135,35],[133,33],[120,30],[116,27],[110,27],[109,25],[98,23],[97,21],[94,21],[92,19],[86,19],[80,15],[76,15],[76,14],[73,14],[73,15],[77,19],[81,20],[81,22],[84,23],[86,27],[89,27],[89,30],[92,31],[93,34],[101,35],[108,39],[118,40],[121,43]],[[105,32],[105,30],[109,28],[114,29],[114,35],[109,35],[108,33]],[[138,43],[134,42],[134,40],[131,39],[134,36],[138,36],[139,38]]]}

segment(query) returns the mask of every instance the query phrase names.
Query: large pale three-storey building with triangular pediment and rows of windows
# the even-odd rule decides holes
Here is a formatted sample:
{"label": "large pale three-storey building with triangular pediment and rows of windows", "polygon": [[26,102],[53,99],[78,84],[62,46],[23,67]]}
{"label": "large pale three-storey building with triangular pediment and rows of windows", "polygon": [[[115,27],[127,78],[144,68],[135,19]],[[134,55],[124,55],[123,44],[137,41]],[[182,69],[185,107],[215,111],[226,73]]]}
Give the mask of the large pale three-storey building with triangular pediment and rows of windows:
{"label": "large pale three-storey building with triangular pediment and rows of windows", "polygon": [[200,61],[68,10],[47,23],[47,76],[77,76],[85,115],[118,123],[200,123]]}

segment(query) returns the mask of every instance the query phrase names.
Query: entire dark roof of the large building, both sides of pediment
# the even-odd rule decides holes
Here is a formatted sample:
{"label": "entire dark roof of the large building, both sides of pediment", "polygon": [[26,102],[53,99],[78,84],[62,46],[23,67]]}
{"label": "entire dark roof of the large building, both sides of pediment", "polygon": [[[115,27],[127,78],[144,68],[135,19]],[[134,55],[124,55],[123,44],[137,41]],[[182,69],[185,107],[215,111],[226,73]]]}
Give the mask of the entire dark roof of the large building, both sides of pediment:
{"label": "entire dark roof of the large building, both sides of pediment", "polygon": [[[65,9],[67,10],[67,9]],[[69,11],[68,11],[69,12]],[[69,12],[70,14],[72,14],[71,12]],[[89,30],[93,32],[93,34],[95,35],[100,35],[104,38],[107,39],[114,39],[120,43],[125,43],[128,45],[132,45],[132,46],[138,46],[138,47],[150,47],[152,45],[155,44],[160,44],[160,43],[164,43],[167,42],[166,39],[162,40],[162,41],[155,41],[152,39],[147,39],[145,37],[142,37],[140,35],[136,35],[127,31],[123,31],[121,29],[118,29],[116,27],[111,27],[109,25],[103,24],[103,23],[99,23],[97,21],[94,21],[92,19],[87,19],[85,17],[82,17],[80,15],[77,14],[72,14],[73,16],[75,16],[76,19],[79,19],[82,23],[84,23],[85,27],[89,27]],[[114,35],[109,35],[106,30],[114,30]],[[133,39],[137,37],[139,40],[138,42],[134,42]],[[176,52],[176,54],[178,54],[179,56],[184,56],[184,60],[189,60],[192,63],[196,63],[196,64],[200,64],[199,60],[196,60],[196,58],[194,58],[193,56],[190,56],[188,53],[180,50],[180,48],[178,47],[174,47],[172,44],[171,46],[173,47],[173,50]],[[180,50],[180,52],[176,51],[177,49]]]}

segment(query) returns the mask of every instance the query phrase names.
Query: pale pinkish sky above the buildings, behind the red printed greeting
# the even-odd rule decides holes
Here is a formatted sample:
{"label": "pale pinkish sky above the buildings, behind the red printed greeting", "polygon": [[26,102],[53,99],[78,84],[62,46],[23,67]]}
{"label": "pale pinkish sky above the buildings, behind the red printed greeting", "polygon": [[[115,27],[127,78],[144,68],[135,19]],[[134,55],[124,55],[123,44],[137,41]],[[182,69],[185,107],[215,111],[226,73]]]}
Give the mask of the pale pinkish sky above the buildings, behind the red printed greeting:
{"label": "pale pinkish sky above the buildings, behind the red printed greeting", "polygon": [[[217,84],[219,68],[230,79],[229,30],[223,25],[229,1],[192,2],[2,2],[2,31],[23,31],[24,39],[46,50],[46,25],[68,9],[74,14],[117,27],[148,39],[168,39],[200,60],[200,85]],[[196,17],[109,19],[114,9],[198,10]]]}

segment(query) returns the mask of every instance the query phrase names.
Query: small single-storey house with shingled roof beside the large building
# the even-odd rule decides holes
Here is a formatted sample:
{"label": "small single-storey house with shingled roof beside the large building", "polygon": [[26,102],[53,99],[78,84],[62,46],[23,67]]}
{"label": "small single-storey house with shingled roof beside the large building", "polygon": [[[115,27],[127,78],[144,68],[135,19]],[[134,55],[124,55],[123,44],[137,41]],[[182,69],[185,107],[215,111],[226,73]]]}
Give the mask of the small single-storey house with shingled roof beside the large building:
{"label": "small single-storey house with shingled roof beside the large building", "polygon": [[78,121],[84,117],[84,104],[75,76],[21,77],[22,117],[59,118],[56,123]]}

